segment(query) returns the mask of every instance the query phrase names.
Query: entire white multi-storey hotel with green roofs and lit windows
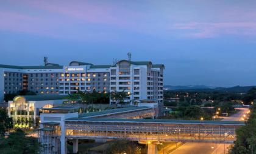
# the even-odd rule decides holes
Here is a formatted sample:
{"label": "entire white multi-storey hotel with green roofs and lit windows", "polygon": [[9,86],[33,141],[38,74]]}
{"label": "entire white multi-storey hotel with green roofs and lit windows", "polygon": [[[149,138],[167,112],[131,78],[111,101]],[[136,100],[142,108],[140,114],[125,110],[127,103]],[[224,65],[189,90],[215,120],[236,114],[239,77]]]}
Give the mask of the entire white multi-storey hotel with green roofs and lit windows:
{"label": "entire white multi-storey hotel with green roofs and lit windows", "polygon": [[[93,65],[72,61],[69,65],[0,65],[0,100],[4,94],[30,90],[41,94],[83,92],[127,92],[125,101],[163,102],[163,65],[150,61],[119,61],[115,65]],[[110,103],[116,103],[110,99]]]}

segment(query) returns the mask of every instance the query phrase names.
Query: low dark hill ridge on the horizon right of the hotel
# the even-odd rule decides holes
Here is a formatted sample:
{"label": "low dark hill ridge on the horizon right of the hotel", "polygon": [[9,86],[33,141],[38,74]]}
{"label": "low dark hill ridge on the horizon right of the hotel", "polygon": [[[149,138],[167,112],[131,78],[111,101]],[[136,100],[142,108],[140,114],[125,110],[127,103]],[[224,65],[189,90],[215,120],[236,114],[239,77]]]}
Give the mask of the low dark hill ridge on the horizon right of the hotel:
{"label": "low dark hill ridge on the horizon right of the hotel", "polygon": [[246,93],[248,90],[256,87],[252,86],[235,86],[235,87],[211,87],[207,85],[185,85],[185,86],[172,86],[166,85],[165,90],[172,91],[187,91],[187,92],[234,92],[234,93]]}

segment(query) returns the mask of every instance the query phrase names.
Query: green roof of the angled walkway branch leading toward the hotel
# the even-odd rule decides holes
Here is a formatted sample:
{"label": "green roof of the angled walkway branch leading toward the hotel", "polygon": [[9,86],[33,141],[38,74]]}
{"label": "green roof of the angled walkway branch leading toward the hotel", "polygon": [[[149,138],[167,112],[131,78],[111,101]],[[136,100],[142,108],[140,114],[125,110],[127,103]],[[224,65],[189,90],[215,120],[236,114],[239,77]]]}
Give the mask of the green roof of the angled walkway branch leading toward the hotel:
{"label": "green roof of the angled walkway branch leading toward the hotel", "polygon": [[151,109],[151,107],[125,107],[120,109],[110,109],[110,110],[103,110],[101,112],[89,112],[89,113],[83,113],[80,114],[79,117],[91,117],[91,116],[101,116],[101,115],[108,115],[108,114],[116,114],[120,112],[130,112],[132,110],[142,110],[142,109]]}

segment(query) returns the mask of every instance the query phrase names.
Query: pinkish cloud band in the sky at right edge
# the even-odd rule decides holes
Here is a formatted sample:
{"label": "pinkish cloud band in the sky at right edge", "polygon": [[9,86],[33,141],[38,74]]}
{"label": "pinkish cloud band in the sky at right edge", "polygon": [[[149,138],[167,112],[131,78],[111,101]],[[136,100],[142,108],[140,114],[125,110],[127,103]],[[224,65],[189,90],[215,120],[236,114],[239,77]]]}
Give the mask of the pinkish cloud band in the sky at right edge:
{"label": "pinkish cloud band in the sky at right edge", "polygon": [[171,26],[189,38],[214,38],[223,35],[256,36],[256,22],[190,22]]}

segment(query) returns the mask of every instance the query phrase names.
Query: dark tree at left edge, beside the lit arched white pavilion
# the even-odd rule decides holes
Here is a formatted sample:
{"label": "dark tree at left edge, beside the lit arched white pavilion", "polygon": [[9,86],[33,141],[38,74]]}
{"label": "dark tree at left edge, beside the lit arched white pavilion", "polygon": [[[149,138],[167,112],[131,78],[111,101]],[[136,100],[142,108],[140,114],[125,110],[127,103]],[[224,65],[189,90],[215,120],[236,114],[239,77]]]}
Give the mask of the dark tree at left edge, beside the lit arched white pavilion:
{"label": "dark tree at left edge, beside the lit arched white pavilion", "polygon": [[4,133],[13,128],[13,120],[7,116],[7,112],[4,108],[0,108],[0,137],[4,136]]}

